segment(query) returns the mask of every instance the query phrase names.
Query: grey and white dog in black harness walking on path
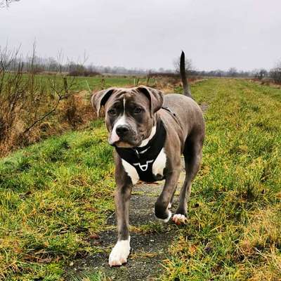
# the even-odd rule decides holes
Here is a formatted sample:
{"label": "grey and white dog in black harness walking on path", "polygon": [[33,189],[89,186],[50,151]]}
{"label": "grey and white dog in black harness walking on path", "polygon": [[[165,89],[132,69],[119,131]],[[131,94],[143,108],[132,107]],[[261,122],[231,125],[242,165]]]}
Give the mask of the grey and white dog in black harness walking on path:
{"label": "grey and white dog in black harness walking on path", "polygon": [[115,206],[118,240],[113,247],[110,266],[122,266],[130,252],[129,200],[139,180],[165,179],[155,202],[155,216],[167,223],[181,173],[181,155],[185,162],[185,181],[178,208],[172,220],[187,220],[187,200],[191,183],[200,169],[205,125],[200,106],[192,99],[185,76],[185,54],[181,53],[183,95],[164,95],[148,86],[130,89],[110,88],[94,93],[91,101],[97,114],[105,108],[108,142],[115,147]]}

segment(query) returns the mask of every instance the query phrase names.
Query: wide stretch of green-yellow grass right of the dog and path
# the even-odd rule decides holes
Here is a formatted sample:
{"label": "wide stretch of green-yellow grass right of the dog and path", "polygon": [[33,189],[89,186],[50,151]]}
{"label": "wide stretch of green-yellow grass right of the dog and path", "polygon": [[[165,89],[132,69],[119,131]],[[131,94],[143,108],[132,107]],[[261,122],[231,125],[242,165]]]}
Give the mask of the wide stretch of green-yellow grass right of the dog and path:
{"label": "wide stretch of green-yellow grass right of the dog and path", "polygon": [[280,280],[280,89],[211,79],[193,93],[207,138],[164,280]]}

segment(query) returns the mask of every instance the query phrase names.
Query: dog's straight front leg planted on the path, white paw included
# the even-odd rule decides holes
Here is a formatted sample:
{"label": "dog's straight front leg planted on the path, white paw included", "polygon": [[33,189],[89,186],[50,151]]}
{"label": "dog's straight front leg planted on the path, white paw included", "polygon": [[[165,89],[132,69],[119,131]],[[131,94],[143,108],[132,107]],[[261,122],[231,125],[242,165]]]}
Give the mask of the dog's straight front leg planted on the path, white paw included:
{"label": "dog's straight front leg planted on the path, white paw included", "polygon": [[115,209],[118,241],[110,253],[109,264],[110,266],[122,266],[123,263],[127,262],[130,253],[129,202],[132,189],[131,179],[126,175],[124,169],[122,169],[122,165],[116,167],[115,181],[117,183]]}

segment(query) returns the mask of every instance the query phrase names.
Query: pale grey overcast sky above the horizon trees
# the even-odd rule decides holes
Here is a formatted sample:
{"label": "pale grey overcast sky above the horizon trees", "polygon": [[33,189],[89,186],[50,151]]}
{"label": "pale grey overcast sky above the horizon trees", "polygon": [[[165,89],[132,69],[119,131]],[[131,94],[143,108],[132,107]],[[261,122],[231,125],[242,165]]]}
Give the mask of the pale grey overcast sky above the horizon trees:
{"label": "pale grey overcast sky above the horizon trees", "polygon": [[[0,0],[1,1],[1,0]],[[86,64],[270,69],[281,59],[281,0],[20,0],[0,9],[0,46]]]}

